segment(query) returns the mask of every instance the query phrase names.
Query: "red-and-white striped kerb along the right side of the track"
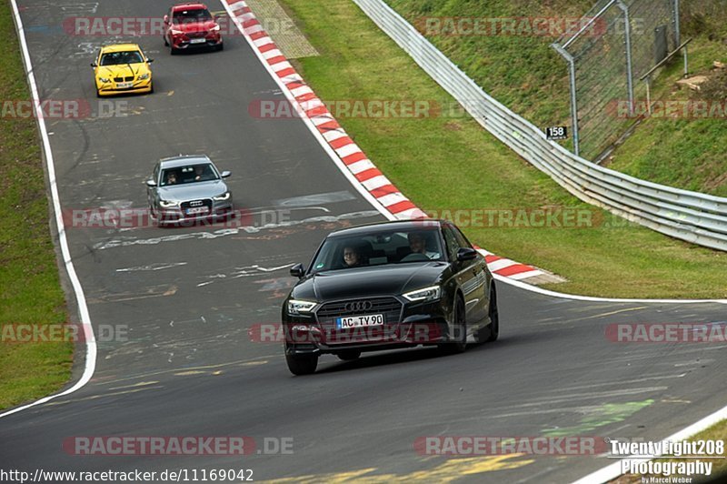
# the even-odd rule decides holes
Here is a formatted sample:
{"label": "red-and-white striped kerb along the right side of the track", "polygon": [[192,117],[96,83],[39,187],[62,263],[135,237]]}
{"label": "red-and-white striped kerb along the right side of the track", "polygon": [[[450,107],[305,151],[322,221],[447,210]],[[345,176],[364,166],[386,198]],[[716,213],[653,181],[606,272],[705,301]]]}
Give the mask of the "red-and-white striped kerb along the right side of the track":
{"label": "red-and-white striped kerb along the right side of the track", "polygon": [[[304,114],[324,137],[335,154],[341,158],[344,165],[354,175],[356,180],[376,200],[388,210],[393,217],[400,220],[412,218],[426,218],[427,215],[416,207],[409,198],[405,197],[383,173],[373,165],[351,136],[338,124],[324,102],[315,96],[313,89],[305,84],[303,77],[298,75],[294,67],[288,62],[281,50],[275,45],[273,39],[265,31],[263,25],[255,17],[250,7],[240,0],[222,0],[229,5],[233,13],[235,24],[239,25],[247,35],[251,44],[255,46],[264,61],[268,63],[275,76],[278,76],[291,96],[300,106],[299,111]],[[562,277],[554,276],[542,269],[520,264],[513,260],[494,256],[492,253],[479,248],[480,253],[487,260],[493,273],[516,280],[527,280],[529,283],[543,284],[563,282]]]}

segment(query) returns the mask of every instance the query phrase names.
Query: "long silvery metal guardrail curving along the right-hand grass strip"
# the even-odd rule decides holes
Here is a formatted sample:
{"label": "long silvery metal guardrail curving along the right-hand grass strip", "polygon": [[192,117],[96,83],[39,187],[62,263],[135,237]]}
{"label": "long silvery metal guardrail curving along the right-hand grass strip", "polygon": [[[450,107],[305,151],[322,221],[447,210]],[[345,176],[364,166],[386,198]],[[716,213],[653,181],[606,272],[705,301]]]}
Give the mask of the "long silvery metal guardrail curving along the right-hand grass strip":
{"label": "long silvery metal guardrail curving along the right-hand grass strip", "polygon": [[666,187],[598,166],[488,96],[383,0],[354,0],[487,131],[575,197],[693,244],[727,250],[727,198]]}

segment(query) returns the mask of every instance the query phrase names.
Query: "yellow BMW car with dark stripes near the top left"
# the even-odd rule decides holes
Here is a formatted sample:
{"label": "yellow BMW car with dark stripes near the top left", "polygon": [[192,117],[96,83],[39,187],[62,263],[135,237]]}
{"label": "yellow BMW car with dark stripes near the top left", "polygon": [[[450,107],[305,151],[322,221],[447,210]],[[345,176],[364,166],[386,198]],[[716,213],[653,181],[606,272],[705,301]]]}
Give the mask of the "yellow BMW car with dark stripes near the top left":
{"label": "yellow BMW car with dark stripes near the top left", "polygon": [[96,95],[153,93],[152,69],[148,58],[136,44],[105,45],[92,67]]}

